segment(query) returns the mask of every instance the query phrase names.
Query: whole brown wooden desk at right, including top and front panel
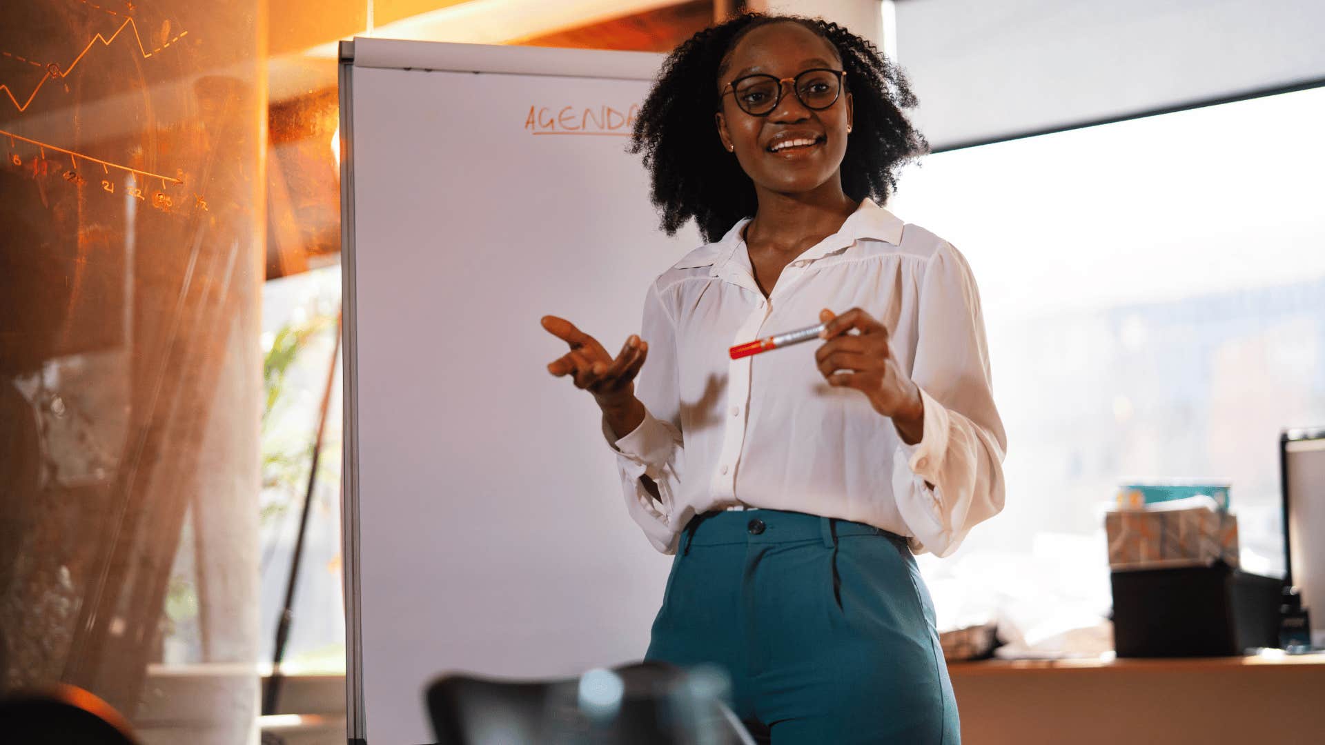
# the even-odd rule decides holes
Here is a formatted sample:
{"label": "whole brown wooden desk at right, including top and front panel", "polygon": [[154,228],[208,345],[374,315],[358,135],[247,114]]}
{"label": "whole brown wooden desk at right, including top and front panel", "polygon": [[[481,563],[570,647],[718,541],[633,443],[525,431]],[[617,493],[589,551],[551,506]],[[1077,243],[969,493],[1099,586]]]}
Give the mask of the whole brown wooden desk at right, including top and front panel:
{"label": "whole brown wooden desk at right, including top and front panel", "polygon": [[983,660],[949,665],[962,740],[1325,742],[1325,655]]}

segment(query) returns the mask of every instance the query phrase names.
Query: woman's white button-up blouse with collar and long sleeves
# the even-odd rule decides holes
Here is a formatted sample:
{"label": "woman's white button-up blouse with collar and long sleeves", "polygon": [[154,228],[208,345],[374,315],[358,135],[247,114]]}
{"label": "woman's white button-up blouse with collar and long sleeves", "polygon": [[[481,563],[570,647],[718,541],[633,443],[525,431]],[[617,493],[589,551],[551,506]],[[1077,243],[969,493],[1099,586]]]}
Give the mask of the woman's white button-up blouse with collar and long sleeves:
{"label": "woman's white button-up blouse with collar and long sleeves", "polygon": [[[649,343],[637,395],[644,422],[613,441],[625,505],[674,553],[696,514],[735,505],[839,517],[951,554],[1003,509],[1003,423],[994,407],[984,321],[966,260],[871,200],[807,249],[768,298],[742,228],[690,252],[644,301]],[[819,339],[731,359],[730,346],[860,306],[886,326],[925,400],[924,436],[901,441],[856,390],[828,386]],[[640,476],[657,484],[661,504]]]}

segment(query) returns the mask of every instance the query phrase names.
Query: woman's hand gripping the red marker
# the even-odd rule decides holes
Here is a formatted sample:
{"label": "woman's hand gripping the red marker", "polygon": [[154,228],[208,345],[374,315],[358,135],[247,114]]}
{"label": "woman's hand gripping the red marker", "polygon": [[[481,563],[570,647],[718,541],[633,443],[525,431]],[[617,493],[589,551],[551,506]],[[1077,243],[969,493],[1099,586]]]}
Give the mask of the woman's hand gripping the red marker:
{"label": "woman's hand gripping the red marker", "polygon": [[[920,387],[902,371],[888,343],[888,327],[859,308],[835,315],[819,312],[827,339],[815,362],[829,386],[856,388],[865,394],[874,411],[888,416],[906,444],[916,444],[925,432],[925,402]],[[856,329],[859,334],[848,334]]]}

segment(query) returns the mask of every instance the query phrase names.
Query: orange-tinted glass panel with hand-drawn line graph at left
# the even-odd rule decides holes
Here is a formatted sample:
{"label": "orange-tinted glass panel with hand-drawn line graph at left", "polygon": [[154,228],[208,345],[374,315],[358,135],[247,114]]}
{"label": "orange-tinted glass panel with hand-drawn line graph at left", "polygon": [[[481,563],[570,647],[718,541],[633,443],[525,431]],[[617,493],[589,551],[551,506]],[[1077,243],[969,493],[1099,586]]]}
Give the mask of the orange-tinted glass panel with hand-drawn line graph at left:
{"label": "orange-tinted glass panel with hand-drawn line graph at left", "polygon": [[3,681],[86,688],[148,742],[244,742],[265,3],[5,15]]}

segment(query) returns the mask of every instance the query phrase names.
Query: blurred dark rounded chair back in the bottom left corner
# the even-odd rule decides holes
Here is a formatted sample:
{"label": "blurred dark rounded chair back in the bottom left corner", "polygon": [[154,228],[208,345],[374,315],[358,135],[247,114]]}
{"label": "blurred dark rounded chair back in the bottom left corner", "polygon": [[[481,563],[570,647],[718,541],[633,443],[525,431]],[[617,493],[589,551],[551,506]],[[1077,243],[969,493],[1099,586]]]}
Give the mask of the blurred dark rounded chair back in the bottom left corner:
{"label": "blurred dark rounded chair back in the bottom left corner", "polygon": [[76,685],[0,699],[0,742],[24,745],[136,745],[129,722]]}

